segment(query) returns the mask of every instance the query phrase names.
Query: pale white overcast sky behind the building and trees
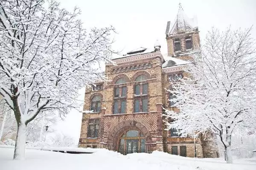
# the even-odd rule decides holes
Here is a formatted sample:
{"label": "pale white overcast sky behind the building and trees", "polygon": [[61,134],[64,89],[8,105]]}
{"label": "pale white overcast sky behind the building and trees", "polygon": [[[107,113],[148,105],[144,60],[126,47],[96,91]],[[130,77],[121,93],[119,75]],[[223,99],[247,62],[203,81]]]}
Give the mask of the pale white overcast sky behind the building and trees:
{"label": "pale white overcast sky behind the building and trees", "polygon": [[[249,28],[254,25],[252,35],[256,38],[256,0],[59,0],[61,6],[71,11],[81,8],[84,27],[113,26],[113,49],[127,51],[138,47],[153,48],[158,39],[162,54],[167,53],[166,23],[173,22],[181,3],[188,17],[198,20],[201,43],[212,26],[224,30]],[[81,99],[84,90],[81,90]],[[58,129],[74,137],[78,142],[81,128],[81,113],[72,111]]]}

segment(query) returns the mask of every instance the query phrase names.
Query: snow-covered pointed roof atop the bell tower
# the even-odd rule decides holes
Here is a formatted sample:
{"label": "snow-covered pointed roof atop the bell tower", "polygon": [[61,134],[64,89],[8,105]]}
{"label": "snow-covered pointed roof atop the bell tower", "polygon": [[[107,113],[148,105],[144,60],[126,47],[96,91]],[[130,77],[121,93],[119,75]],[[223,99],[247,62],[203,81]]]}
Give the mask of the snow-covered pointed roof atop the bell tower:
{"label": "snow-covered pointed roof atop the bell tower", "polygon": [[169,36],[171,34],[177,34],[178,31],[192,31],[196,30],[198,28],[197,24],[197,18],[189,18],[185,12],[183,11],[183,8],[179,7],[177,17],[175,18],[174,22],[171,23],[170,21],[167,22],[166,27],[166,36]]}

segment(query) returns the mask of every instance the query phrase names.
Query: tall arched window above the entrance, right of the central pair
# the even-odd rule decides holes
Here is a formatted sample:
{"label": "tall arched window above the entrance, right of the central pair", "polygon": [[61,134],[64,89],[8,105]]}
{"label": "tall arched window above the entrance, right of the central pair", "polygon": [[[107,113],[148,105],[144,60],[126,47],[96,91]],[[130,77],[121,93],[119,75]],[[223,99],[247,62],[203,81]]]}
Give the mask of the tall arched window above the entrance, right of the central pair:
{"label": "tall arched window above the entrance, right of the central pair", "polygon": [[138,76],[134,85],[134,113],[148,112],[148,83],[145,75]]}

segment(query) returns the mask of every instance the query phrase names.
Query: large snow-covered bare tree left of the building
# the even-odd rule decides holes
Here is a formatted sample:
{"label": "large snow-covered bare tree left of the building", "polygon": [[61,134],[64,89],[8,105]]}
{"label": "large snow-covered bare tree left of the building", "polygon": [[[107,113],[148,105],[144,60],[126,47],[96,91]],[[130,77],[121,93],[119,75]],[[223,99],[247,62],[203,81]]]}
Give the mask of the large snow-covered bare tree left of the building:
{"label": "large snow-covered bare tree left of the building", "polygon": [[97,65],[111,62],[114,28],[87,33],[79,14],[55,0],[0,1],[0,95],[17,121],[14,159],[24,158],[26,126],[39,113],[68,113],[79,88],[104,79]]}

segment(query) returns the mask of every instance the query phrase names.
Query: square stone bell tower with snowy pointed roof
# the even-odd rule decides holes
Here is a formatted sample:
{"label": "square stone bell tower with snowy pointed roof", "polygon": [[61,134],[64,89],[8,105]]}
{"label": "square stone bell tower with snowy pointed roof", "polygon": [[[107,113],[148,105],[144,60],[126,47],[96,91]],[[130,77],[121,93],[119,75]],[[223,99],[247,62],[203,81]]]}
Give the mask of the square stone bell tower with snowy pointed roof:
{"label": "square stone bell tower with snowy pointed roof", "polygon": [[178,59],[191,60],[191,54],[200,48],[197,19],[189,18],[180,3],[175,20],[167,22],[166,41],[168,56]]}

